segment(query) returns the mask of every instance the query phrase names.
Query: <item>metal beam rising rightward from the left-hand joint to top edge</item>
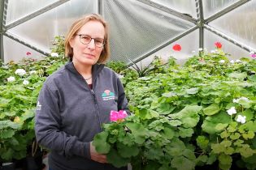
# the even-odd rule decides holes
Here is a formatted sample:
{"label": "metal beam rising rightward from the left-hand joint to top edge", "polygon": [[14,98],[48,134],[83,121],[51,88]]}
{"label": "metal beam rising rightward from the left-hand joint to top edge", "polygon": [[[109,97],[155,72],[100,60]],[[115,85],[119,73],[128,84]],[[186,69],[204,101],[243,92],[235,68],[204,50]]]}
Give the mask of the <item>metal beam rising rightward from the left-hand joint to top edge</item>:
{"label": "metal beam rising rightward from the left-hand joint to top edge", "polygon": [[29,19],[33,19],[36,16],[41,15],[41,14],[47,12],[47,11],[50,11],[54,7],[60,6],[63,3],[68,2],[68,1],[70,1],[70,0],[59,0],[58,2],[54,2],[54,3],[50,4],[49,6],[46,6],[46,7],[42,8],[41,10],[35,11],[32,14],[30,14],[30,15],[24,16],[23,18],[21,18],[19,20],[16,20],[13,23],[8,24],[6,26],[6,28],[7,28],[7,30],[11,29],[11,28],[14,28],[15,26],[20,25],[21,23],[24,23],[24,22],[28,21]]}

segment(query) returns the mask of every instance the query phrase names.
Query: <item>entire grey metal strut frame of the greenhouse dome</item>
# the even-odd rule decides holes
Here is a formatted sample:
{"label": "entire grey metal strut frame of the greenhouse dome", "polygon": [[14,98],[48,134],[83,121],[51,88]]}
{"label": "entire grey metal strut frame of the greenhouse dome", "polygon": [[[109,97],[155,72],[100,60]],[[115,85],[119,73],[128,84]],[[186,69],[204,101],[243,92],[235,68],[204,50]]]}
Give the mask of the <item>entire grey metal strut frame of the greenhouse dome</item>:
{"label": "entire grey metal strut frame of the greenhouse dome", "polygon": [[[0,2],[0,11],[2,11],[2,12],[0,12],[0,55],[1,55],[0,57],[1,57],[2,61],[4,60],[3,36],[7,36],[7,37],[11,38],[12,40],[15,40],[15,41],[19,42],[22,45],[25,45],[25,46],[27,46],[31,49],[36,50],[39,53],[42,53],[44,55],[48,55],[49,53],[44,52],[43,50],[37,48],[36,46],[29,45],[24,40],[21,40],[20,38],[15,37],[15,35],[11,35],[11,33],[7,32],[7,31],[11,28],[14,28],[17,25],[20,25],[21,23],[24,23],[24,22],[28,21],[29,19],[35,18],[37,15],[41,15],[41,14],[45,13],[46,11],[50,11],[54,7],[62,5],[63,3],[68,2],[68,1],[70,1],[70,0],[59,0],[58,2],[54,2],[54,3],[50,4],[49,6],[46,6],[46,7],[42,8],[41,10],[33,12],[30,15],[24,16],[22,19],[19,19],[19,20],[15,21],[13,23],[10,23],[6,26],[5,24],[6,24],[6,18],[7,18],[7,3],[8,3],[8,0],[2,0]],[[220,16],[227,14],[228,12],[236,9],[239,6],[242,6],[243,4],[245,4],[246,2],[249,2],[251,0],[240,0],[238,2],[235,2],[232,5],[224,8],[222,11],[219,11],[219,12],[215,13],[214,15],[211,15],[207,19],[204,19],[202,0],[195,0],[195,5],[196,5],[196,9],[197,9],[197,19],[194,19],[192,16],[189,16],[189,15],[180,13],[178,11],[172,10],[172,9],[170,9],[166,6],[163,6],[161,4],[158,4],[156,2],[151,2],[150,0],[137,0],[137,1],[141,2],[141,3],[144,3],[148,6],[153,6],[154,8],[156,8],[158,10],[165,11],[168,14],[175,15],[175,16],[179,17],[180,19],[184,19],[186,21],[189,21],[190,23],[194,23],[195,26],[193,28],[190,28],[186,32],[183,32],[179,36],[176,36],[175,38],[172,38],[171,40],[168,40],[163,45],[159,45],[157,48],[153,49],[149,53],[143,54],[141,57],[138,57],[138,59],[134,62],[140,62],[145,57],[148,57],[151,54],[157,52],[158,50],[163,49],[167,45],[170,45],[172,42],[174,42],[176,40],[179,40],[181,37],[186,36],[190,32],[193,32],[193,31],[197,30],[197,28],[199,29],[199,47],[200,48],[204,47],[204,29],[206,28],[210,32],[213,32],[216,35],[221,36],[223,39],[228,40],[232,44],[237,45],[237,46],[241,47],[242,49],[245,49],[248,52],[256,51],[255,49],[249,47],[248,45],[244,45],[241,42],[238,42],[237,40],[232,39],[232,37],[230,37],[226,34],[223,34],[222,32],[219,32],[217,29],[215,29],[213,27],[210,27],[208,25],[208,23],[210,23],[211,21],[213,21],[215,19],[218,19]],[[98,14],[103,15],[103,12],[104,12],[103,11],[103,1],[98,0]]]}

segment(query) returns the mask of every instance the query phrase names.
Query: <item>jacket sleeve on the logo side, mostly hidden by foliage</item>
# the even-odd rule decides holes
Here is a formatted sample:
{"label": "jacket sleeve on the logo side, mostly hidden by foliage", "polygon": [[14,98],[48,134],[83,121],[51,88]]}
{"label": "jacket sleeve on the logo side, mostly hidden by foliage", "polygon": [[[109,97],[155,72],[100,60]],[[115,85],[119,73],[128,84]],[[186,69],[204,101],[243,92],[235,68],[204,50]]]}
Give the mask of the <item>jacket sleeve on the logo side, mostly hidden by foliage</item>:
{"label": "jacket sleeve on the logo side, mostly hidden by foliage", "polygon": [[125,110],[129,115],[131,114],[128,108],[128,100],[126,99],[124,86],[121,83],[120,79],[117,78],[118,86],[118,110]]}

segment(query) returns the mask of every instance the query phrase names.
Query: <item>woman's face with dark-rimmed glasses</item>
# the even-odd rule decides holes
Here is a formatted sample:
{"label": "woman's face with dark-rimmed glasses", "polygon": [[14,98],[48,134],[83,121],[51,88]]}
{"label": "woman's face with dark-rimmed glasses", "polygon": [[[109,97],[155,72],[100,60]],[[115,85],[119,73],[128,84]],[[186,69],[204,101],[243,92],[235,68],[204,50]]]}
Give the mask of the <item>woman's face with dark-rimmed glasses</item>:
{"label": "woman's face with dark-rimmed glasses", "polygon": [[104,35],[105,28],[99,21],[91,20],[85,23],[69,42],[73,49],[74,64],[92,66],[97,63],[104,48],[99,47]]}

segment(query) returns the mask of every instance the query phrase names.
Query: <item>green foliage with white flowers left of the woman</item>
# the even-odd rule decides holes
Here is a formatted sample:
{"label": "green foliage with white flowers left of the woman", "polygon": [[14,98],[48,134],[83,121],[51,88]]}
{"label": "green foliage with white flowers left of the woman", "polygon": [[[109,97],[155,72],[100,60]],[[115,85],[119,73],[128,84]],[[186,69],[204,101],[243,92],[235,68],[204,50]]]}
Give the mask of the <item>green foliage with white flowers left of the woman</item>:
{"label": "green foliage with white flowers left of the woman", "polygon": [[[0,67],[0,162],[29,155],[34,134],[34,114],[42,83],[67,62],[63,57],[41,61],[26,57]],[[23,70],[19,74],[17,70]],[[15,81],[8,81],[13,77]]]}

